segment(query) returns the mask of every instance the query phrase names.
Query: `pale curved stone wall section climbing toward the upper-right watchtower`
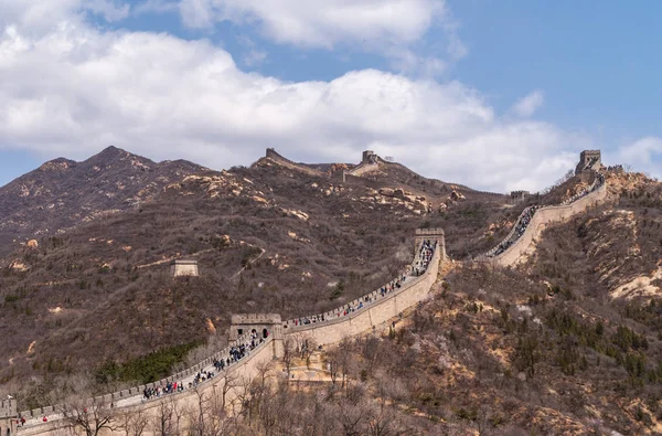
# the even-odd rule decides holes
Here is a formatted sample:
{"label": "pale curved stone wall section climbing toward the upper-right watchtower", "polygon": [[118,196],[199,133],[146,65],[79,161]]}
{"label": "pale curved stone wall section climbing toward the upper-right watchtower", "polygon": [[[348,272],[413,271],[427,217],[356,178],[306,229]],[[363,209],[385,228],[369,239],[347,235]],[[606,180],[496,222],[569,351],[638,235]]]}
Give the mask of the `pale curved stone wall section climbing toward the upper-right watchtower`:
{"label": "pale curved stone wall section climbing toward the upper-right watchtower", "polygon": [[553,223],[565,221],[570,216],[586,211],[589,206],[600,203],[607,196],[607,184],[602,183],[596,191],[566,205],[546,206],[537,210],[524,234],[505,252],[490,259],[494,265],[509,266],[514,264],[538,235],[542,227]]}

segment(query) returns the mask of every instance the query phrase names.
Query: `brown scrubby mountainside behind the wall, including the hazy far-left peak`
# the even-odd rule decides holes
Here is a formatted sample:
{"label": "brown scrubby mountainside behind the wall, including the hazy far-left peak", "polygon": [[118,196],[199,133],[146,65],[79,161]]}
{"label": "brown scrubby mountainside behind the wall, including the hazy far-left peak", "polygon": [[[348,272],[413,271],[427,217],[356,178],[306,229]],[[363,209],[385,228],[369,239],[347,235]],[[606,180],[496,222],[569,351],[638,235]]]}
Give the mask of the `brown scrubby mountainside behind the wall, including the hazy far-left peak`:
{"label": "brown scrubby mountainside behind the wall, including the hazy far-left peak", "polygon": [[[417,174],[389,178],[392,166],[381,181],[350,183],[269,158],[222,172],[117,149],[57,162],[3,189],[13,192],[7,215],[24,220],[17,228],[36,230],[0,258],[0,380],[223,341],[233,312],[337,307],[410,262],[415,228],[447,227],[449,241],[463,241],[449,251],[466,252],[489,222],[512,213],[502,195],[485,201]],[[17,201],[23,185],[30,194]],[[201,277],[173,280],[177,258],[196,259]]]}

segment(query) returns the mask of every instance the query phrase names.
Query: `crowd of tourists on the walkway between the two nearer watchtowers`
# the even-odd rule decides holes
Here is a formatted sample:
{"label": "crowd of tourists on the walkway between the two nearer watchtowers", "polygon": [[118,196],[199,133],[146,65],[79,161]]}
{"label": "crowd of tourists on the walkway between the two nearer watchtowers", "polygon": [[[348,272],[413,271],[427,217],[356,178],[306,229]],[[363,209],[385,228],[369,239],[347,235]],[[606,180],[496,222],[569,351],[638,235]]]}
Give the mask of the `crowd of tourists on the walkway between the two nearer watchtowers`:
{"label": "crowd of tourists on the walkway between the two nearer watchtowers", "polygon": [[[430,265],[430,262],[433,260],[433,256],[435,255],[436,248],[437,248],[437,242],[431,242],[429,240],[424,241],[423,244],[420,245],[420,247],[418,248],[418,253],[416,254],[416,257],[415,257],[413,264],[407,268],[406,273],[399,275],[397,278],[394,278],[386,285],[382,286],[378,289],[378,295],[376,293],[373,293],[373,294],[363,296],[353,302],[346,304],[346,305],[335,309],[331,313],[331,317],[332,318],[345,317],[350,313],[361,310],[361,309],[363,309],[363,307],[366,304],[377,300],[377,298],[380,298],[380,296],[383,298],[386,295],[402,288],[409,276],[417,277],[417,276],[423,275],[427,270],[428,266]],[[323,313],[322,315],[313,315],[313,316],[309,316],[309,317],[302,317],[302,318],[295,319],[293,326],[297,327],[297,326],[306,326],[306,325],[316,323],[316,322],[323,322],[328,319],[329,319],[329,315],[327,315],[327,316]],[[286,326],[286,328],[287,328],[287,326]]]}

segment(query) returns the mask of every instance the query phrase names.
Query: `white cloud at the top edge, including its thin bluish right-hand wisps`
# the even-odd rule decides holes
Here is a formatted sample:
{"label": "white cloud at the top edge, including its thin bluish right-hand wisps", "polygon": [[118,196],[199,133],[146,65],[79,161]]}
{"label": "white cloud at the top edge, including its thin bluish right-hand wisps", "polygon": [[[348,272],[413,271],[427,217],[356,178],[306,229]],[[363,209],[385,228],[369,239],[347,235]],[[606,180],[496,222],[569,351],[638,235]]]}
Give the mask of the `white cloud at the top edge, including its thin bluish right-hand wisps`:
{"label": "white cloud at the top edge, including its thin bluish right-hand wisps", "polygon": [[[412,75],[439,75],[449,61],[468,52],[445,0],[181,0],[180,12],[191,28],[232,21],[256,26],[279,44],[380,53]],[[420,43],[434,26],[446,41],[434,43],[435,53],[420,54]]]}

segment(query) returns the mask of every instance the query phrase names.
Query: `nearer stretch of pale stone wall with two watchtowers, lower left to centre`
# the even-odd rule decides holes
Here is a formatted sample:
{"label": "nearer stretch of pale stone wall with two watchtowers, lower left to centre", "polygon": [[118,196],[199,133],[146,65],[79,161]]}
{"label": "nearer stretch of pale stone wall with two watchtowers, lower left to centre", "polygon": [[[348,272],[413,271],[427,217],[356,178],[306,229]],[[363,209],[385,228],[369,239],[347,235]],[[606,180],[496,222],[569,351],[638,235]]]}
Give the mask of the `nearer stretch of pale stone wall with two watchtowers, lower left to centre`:
{"label": "nearer stretch of pale stone wall with two watchtowers, lower left to centre", "polygon": [[[420,233],[420,232],[419,232]],[[346,316],[332,318],[333,312],[329,312],[327,321],[298,326],[295,327],[291,321],[286,321],[286,326],[290,327],[289,330],[284,331],[281,326],[277,326],[277,334],[270,334],[257,349],[253,350],[247,357],[242,359],[239,362],[234,363],[227,369],[227,373],[233,377],[249,380],[255,377],[259,373],[260,366],[267,364],[274,359],[282,355],[282,339],[284,337],[300,336],[302,338],[312,338],[318,344],[324,345],[334,342],[339,342],[342,339],[355,334],[370,331],[373,327],[384,323],[389,319],[397,317],[404,310],[415,306],[419,301],[427,298],[431,286],[437,280],[439,270],[439,262],[444,258],[442,251],[442,231],[440,230],[426,230],[425,236],[434,236],[435,240],[439,241],[438,248],[435,251],[433,260],[427,270],[416,278],[409,278],[409,281],[403,284],[402,288],[386,294],[384,297],[378,298],[378,291],[371,294],[373,301],[366,302],[362,309]],[[424,236],[418,234],[417,236]],[[431,237],[430,237],[431,238]],[[359,305],[359,299],[352,301],[354,306]],[[236,325],[270,325],[277,319],[278,315],[264,313],[264,315],[237,315],[233,317],[233,323]],[[247,341],[249,331],[238,338],[239,342]],[[122,412],[131,412],[141,410],[143,413],[156,416],[158,405],[164,401],[175,401],[178,405],[182,407],[186,404],[194,404],[197,397],[195,390],[186,390],[178,394],[166,395],[162,398],[151,400],[146,403],[142,402],[142,392],[146,387],[164,386],[169,382],[180,382],[186,384],[186,380],[199,371],[209,368],[214,359],[224,359],[228,355],[228,348],[220,351],[213,357],[205,359],[199,364],[181,371],[172,376],[163,379],[156,383],[148,385],[135,386],[129,390],[121,392],[111,393],[100,397],[94,398],[95,404],[110,404],[114,403],[117,410]],[[197,387],[197,392],[209,392],[210,390],[220,391],[225,383],[225,379],[216,376],[210,381],[203,382]],[[238,387],[237,387],[238,389]],[[228,402],[238,395],[237,392],[232,391],[228,394]],[[21,428],[21,435],[47,435],[52,434],[57,428],[66,427],[66,422],[57,415],[58,406],[50,406],[39,408],[34,411],[25,411],[21,413],[21,416],[31,419],[32,423],[36,419],[36,424],[32,424],[28,427]],[[41,418],[47,415],[50,422],[40,423]],[[106,433],[113,434],[113,433]],[[4,436],[4,435],[2,435]]]}

